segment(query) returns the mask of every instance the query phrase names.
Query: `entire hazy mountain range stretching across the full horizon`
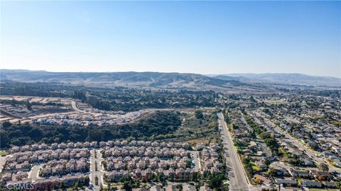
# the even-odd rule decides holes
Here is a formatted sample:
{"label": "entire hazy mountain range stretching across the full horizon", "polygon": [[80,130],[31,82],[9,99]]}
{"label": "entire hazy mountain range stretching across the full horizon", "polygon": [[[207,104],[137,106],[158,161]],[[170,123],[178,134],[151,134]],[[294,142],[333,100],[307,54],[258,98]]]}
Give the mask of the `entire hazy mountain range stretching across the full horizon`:
{"label": "entire hazy mountain range stretching across the full horizon", "polygon": [[161,72],[50,72],[1,69],[1,81],[141,86],[156,88],[236,88],[269,90],[264,84],[341,86],[341,79],[305,74],[222,74]]}

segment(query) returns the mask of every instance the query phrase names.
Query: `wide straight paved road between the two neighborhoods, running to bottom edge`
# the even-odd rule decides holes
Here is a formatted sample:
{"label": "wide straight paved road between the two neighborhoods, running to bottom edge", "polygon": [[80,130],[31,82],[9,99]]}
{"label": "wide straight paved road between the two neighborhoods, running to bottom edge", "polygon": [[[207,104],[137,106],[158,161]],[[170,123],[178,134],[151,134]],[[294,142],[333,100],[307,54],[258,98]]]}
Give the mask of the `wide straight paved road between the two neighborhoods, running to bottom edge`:
{"label": "wide straight paved road between the two neighborhoods, running to bottom edge", "polygon": [[246,173],[244,171],[242,163],[237,156],[237,151],[234,148],[232,137],[229,134],[227,124],[226,122],[224,122],[224,117],[221,112],[218,113],[218,117],[220,128],[222,128],[222,141],[224,144],[224,153],[230,183],[229,190],[232,191],[250,190],[251,185],[249,185],[249,181],[247,180]]}

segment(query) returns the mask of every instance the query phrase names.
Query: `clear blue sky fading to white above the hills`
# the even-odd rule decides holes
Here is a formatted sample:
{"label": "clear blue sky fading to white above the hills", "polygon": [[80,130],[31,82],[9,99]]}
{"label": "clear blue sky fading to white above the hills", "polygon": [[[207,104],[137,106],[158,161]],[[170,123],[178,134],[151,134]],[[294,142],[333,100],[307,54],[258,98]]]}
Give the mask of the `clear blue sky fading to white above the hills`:
{"label": "clear blue sky fading to white above the hills", "polygon": [[1,68],[341,76],[337,1],[1,1]]}

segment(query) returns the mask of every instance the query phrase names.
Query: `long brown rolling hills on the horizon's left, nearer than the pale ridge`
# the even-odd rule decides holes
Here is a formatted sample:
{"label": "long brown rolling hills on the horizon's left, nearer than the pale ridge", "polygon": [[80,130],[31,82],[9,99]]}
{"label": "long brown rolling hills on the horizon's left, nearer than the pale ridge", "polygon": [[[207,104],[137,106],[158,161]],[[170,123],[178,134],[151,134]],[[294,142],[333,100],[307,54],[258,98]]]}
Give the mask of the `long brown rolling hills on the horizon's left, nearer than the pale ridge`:
{"label": "long brown rolling hills on the horizon's left, nearer than the pale ridge", "polygon": [[214,88],[242,85],[238,81],[215,79],[201,74],[161,72],[48,72],[1,69],[1,80],[110,86],[148,86],[168,88]]}

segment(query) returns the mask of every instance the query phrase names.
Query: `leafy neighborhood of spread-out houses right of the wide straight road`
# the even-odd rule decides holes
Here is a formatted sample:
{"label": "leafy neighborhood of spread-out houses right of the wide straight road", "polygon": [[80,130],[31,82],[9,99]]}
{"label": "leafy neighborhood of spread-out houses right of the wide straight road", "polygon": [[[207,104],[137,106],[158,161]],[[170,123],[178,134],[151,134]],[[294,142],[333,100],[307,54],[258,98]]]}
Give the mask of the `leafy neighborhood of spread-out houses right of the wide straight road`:
{"label": "leafy neighborhood of spread-out houses right of the wide straight road", "polygon": [[237,102],[224,116],[253,184],[337,187],[340,97],[241,96]]}

